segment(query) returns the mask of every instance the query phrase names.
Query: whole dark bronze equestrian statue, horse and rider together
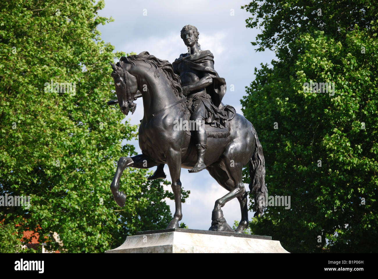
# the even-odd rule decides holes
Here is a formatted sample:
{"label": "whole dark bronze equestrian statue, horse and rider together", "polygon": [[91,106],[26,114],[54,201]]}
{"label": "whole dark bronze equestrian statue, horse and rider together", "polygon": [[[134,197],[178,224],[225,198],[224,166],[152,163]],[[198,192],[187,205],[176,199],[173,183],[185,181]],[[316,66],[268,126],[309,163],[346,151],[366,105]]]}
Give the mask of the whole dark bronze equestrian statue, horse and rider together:
{"label": "whole dark bronze equestrian statue, horse and rider together", "polygon": [[[265,208],[265,160],[256,130],[251,122],[235,113],[233,107],[222,104],[226,82],[214,70],[214,56],[198,45],[197,28],[186,25],[181,38],[189,52],[170,64],[147,51],[121,57],[112,64],[117,100],[121,112],[133,113],[133,100],[143,98],[144,116],[139,127],[139,147],[142,154],[121,157],[110,189],[119,206],[124,206],[125,194],[119,190],[119,179],[126,167],[158,166],[149,179],[165,178],[168,164],[175,195],[175,214],[167,228],[178,228],[181,214],[181,167],[190,172],[206,168],[217,182],[229,191],[215,202],[209,230],[243,233],[248,227],[247,192],[242,182],[242,169],[249,162],[251,183],[255,194],[254,211]],[[175,129],[175,122],[195,121],[196,129]],[[206,151],[207,150],[207,151]],[[206,151],[206,152],[205,152]],[[222,206],[232,198],[240,203],[242,219],[234,231],[223,217]]]}

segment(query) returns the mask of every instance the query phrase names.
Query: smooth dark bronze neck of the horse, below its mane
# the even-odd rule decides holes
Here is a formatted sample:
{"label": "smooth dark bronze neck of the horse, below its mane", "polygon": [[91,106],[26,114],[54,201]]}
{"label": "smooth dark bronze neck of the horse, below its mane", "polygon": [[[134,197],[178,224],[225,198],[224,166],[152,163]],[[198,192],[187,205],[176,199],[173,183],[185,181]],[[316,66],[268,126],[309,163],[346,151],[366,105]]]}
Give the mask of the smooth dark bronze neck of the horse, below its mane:
{"label": "smooth dark bronze neck of the horse, below its mane", "polygon": [[[144,107],[144,118],[150,119],[154,114],[163,110],[164,107],[173,104],[180,100],[178,96],[175,95],[174,90],[169,86],[166,77],[162,77],[155,80],[152,76],[146,76],[141,81],[142,85],[139,91],[143,92],[143,107]],[[147,92],[142,91],[144,84],[147,84]]]}

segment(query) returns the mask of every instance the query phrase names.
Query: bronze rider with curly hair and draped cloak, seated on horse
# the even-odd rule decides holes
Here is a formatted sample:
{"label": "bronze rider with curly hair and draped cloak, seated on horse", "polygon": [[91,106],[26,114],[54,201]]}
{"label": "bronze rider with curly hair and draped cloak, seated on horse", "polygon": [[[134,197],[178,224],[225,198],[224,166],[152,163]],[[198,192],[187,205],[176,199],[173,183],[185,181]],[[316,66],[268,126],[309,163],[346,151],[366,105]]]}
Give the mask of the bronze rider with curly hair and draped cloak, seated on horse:
{"label": "bronze rider with curly hair and draped cloak, seated on horse", "polygon": [[[203,158],[206,152],[206,130],[204,123],[214,127],[228,126],[227,113],[220,110],[226,92],[225,79],[214,70],[214,56],[209,50],[201,50],[198,44],[198,30],[195,26],[185,25],[181,29],[181,39],[188,48],[188,53],[181,54],[172,63],[174,72],[180,75],[183,94],[187,98],[187,107],[191,120],[198,123],[194,135],[197,147],[197,163],[189,172],[199,172],[206,168]],[[149,180],[165,178],[164,164],[159,164]]]}

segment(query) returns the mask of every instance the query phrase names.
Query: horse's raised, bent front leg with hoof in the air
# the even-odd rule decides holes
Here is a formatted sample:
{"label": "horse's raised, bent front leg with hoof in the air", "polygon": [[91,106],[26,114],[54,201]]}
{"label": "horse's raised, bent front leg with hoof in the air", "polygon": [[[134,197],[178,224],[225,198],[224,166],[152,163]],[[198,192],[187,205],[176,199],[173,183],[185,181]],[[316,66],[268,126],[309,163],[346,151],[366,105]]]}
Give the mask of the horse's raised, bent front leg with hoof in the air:
{"label": "horse's raised, bent front leg with hoof in the air", "polygon": [[156,166],[155,163],[150,158],[143,154],[136,155],[134,157],[121,157],[117,163],[117,170],[114,175],[112,184],[110,184],[110,190],[112,191],[113,198],[118,206],[123,207],[126,201],[126,195],[123,191],[118,191],[119,189],[119,179],[121,178],[122,172],[126,167],[136,167],[138,169],[148,169],[150,167]]}

